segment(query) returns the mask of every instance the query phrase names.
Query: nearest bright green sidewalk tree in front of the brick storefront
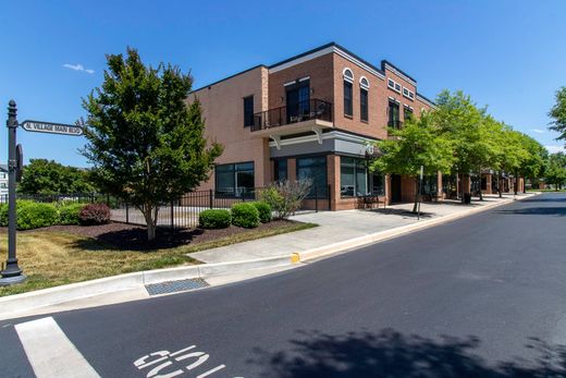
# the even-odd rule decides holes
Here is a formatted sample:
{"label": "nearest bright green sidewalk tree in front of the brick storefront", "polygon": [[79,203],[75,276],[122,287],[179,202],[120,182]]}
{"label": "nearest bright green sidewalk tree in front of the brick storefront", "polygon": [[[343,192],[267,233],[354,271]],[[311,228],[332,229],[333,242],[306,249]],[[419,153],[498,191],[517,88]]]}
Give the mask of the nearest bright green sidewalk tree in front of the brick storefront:
{"label": "nearest bright green sidewalk tree in front of the brick storefront", "polygon": [[371,170],[406,174],[415,178],[415,206],[417,211],[420,167],[424,174],[448,173],[454,162],[451,143],[440,135],[429,113],[419,119],[411,117],[401,130],[390,130],[390,139],[376,143],[380,157],[370,164]]}

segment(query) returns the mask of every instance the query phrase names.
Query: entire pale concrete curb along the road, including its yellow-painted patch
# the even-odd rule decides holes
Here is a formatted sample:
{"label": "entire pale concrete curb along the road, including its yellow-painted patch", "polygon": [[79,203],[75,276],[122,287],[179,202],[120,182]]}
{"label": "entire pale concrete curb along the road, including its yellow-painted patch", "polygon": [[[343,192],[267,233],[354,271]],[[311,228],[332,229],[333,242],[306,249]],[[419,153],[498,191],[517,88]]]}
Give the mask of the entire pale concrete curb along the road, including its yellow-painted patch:
{"label": "entire pale concrete curb along the road, including its yellow-painted patch", "polygon": [[[536,195],[536,194],[533,194]],[[532,196],[532,195],[531,195]],[[518,198],[526,199],[531,196]],[[124,290],[145,288],[146,284],[185,280],[192,278],[206,279],[224,275],[239,273],[260,268],[285,267],[293,264],[309,261],[330,256],[340,252],[359,247],[362,245],[394,239],[410,232],[423,230],[455,219],[464,218],[472,214],[485,211],[497,206],[512,203],[512,200],[484,205],[468,211],[423,220],[418,223],[398,227],[392,230],[376,232],[372,234],[350,239],[344,242],[333,243],[319,248],[292,253],[275,257],[266,257],[243,261],[202,264],[186,267],[139,271],[113,277],[101,278],[91,281],[71,283],[66,285],[37,290],[23,294],[0,297],[0,318],[9,318],[19,313],[59,305],[65,302],[84,300],[101,294],[109,294]]]}

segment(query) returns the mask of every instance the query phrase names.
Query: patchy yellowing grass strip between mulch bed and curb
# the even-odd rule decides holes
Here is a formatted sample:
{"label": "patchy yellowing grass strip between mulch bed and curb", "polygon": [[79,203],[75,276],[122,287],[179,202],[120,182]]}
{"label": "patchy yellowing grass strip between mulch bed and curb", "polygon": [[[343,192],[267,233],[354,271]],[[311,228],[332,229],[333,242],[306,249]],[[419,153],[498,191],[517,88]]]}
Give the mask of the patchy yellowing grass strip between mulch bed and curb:
{"label": "patchy yellowing grass strip between mulch bed and curb", "polygon": [[[316,225],[290,223],[266,230],[248,230],[195,245],[149,252],[116,249],[94,239],[63,232],[20,232],[17,258],[27,280],[13,286],[0,286],[0,296],[133,271],[199,264],[186,254]],[[5,261],[7,245],[7,234],[0,234],[2,263]]]}

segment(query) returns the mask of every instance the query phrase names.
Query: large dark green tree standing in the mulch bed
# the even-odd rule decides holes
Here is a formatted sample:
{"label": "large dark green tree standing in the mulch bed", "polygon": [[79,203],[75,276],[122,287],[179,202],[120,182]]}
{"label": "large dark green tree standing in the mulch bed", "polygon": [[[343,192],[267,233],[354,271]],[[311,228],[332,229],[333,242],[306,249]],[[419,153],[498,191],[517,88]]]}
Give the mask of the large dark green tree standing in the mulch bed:
{"label": "large dark green tree standing in the mulch bed", "polygon": [[[109,194],[137,207],[156,237],[159,206],[179,199],[209,176],[222,146],[204,137],[193,78],[171,64],[146,66],[135,49],[107,56],[104,81],[83,100],[88,112],[83,155]],[[208,146],[207,146],[208,144]]]}

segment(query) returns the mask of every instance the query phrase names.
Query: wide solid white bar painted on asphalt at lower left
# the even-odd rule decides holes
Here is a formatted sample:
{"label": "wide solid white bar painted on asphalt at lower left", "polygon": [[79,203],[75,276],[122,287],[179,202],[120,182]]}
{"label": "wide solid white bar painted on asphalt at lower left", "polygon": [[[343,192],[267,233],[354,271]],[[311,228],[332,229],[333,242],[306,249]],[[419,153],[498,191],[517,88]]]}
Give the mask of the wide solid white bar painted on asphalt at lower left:
{"label": "wide solid white bar painted on asphalt at lower left", "polygon": [[100,378],[52,317],[15,326],[37,378]]}

